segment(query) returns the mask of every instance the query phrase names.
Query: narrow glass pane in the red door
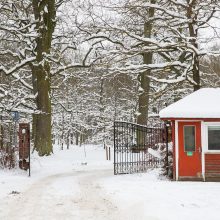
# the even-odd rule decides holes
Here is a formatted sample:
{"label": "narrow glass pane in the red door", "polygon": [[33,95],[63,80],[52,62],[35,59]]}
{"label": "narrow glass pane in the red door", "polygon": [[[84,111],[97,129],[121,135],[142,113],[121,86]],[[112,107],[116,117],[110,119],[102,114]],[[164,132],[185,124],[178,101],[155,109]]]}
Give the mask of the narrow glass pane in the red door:
{"label": "narrow glass pane in the red door", "polygon": [[184,126],[184,151],[195,151],[195,126]]}

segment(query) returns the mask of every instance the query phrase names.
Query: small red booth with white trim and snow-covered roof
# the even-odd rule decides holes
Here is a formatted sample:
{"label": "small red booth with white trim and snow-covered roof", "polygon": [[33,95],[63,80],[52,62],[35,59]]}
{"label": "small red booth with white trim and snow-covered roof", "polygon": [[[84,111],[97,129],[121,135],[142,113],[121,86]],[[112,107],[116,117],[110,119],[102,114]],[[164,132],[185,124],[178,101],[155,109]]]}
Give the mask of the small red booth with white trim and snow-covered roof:
{"label": "small red booth with white trim and snow-covered roof", "polygon": [[172,125],[174,179],[220,181],[220,89],[200,89],[160,118]]}

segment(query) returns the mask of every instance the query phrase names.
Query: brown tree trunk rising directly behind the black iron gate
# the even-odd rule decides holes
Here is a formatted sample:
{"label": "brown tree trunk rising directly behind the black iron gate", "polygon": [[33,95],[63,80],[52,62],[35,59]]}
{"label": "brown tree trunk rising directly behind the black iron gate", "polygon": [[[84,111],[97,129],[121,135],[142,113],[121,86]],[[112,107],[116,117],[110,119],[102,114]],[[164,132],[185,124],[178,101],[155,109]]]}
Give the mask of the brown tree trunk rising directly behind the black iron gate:
{"label": "brown tree trunk rising directly behind the black iron gate", "polygon": [[[155,4],[155,0],[151,0],[151,4]],[[150,38],[152,35],[153,24],[150,18],[154,16],[155,9],[149,9],[148,21],[144,24],[144,36]],[[147,45],[146,45],[147,46]],[[153,61],[153,53],[144,53],[143,54],[143,63],[151,64]],[[150,78],[148,77],[151,74],[150,70],[147,70],[143,73],[140,73],[138,80],[141,86],[141,93],[138,97],[138,111],[139,115],[137,117],[137,123],[142,125],[147,125],[148,120],[148,110],[149,110],[149,91],[150,91]]]}

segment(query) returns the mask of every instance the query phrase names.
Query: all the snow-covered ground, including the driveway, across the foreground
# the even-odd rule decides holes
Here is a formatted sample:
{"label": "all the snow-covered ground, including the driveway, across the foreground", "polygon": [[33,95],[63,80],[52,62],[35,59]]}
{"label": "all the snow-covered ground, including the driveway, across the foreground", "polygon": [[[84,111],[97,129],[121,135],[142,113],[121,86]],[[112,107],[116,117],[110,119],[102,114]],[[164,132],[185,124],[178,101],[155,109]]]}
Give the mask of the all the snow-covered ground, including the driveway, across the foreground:
{"label": "all the snow-covered ground, including the driveway, across the foreground", "polygon": [[32,177],[0,171],[0,220],[219,220],[220,183],[113,175],[100,146],[32,156]]}

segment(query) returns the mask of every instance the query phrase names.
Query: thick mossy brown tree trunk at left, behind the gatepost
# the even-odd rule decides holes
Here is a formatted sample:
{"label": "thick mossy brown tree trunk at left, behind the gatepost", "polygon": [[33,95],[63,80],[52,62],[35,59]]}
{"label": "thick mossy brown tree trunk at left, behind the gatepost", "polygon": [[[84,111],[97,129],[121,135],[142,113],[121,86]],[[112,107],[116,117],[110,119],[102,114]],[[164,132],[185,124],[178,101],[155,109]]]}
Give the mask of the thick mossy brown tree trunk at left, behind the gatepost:
{"label": "thick mossy brown tree trunk at left, behind the gatepost", "polygon": [[[33,117],[34,149],[40,156],[53,152],[51,138],[51,100],[50,100],[50,64],[44,60],[44,54],[50,54],[52,35],[55,28],[55,0],[32,1],[35,20],[37,21],[36,39],[37,63],[32,66],[34,92],[37,94],[36,105],[40,114]],[[47,8],[47,10],[45,10]]]}

